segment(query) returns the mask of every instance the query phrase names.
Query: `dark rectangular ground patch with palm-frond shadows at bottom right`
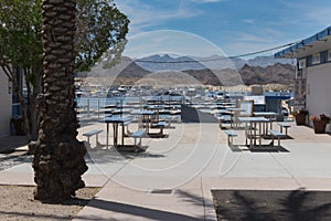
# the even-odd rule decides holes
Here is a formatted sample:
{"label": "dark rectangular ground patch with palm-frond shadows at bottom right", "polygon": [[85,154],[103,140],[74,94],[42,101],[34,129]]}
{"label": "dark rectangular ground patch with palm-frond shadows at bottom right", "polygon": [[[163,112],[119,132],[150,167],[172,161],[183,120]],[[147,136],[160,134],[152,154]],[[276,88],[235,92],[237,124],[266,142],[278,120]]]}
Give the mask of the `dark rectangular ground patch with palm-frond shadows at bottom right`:
{"label": "dark rectangular ground patch with palm-frond shadows at bottom right", "polygon": [[212,190],[218,220],[331,220],[331,192]]}

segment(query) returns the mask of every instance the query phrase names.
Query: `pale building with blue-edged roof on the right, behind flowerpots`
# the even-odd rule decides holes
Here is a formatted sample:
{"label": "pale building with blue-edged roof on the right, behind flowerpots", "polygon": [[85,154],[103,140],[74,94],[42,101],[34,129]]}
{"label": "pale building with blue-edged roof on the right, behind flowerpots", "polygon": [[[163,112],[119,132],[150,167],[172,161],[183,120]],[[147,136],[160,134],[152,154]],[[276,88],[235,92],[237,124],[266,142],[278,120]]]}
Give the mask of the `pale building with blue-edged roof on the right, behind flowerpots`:
{"label": "pale building with blue-edged roof on the right, behind flowerpots", "polygon": [[[295,108],[331,115],[331,27],[275,54],[297,59]],[[309,123],[311,125],[311,123]],[[331,131],[330,124],[327,131]]]}

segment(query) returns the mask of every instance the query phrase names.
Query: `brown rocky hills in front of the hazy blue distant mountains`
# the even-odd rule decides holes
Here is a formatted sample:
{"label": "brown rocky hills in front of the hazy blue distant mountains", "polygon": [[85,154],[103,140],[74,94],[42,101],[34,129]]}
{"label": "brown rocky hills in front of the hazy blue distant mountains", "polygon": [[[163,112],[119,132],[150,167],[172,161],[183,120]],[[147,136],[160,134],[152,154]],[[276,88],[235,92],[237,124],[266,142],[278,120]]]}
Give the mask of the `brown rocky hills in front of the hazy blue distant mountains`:
{"label": "brown rocky hills in front of the hazy blue distant mountains", "polygon": [[[180,74],[179,74],[180,73]],[[120,62],[111,69],[105,69],[98,65],[93,69],[89,75],[97,78],[109,78],[108,85],[114,84],[135,84],[137,81],[149,80],[162,82],[167,81],[171,84],[171,78],[174,82],[185,84],[185,75],[196,80],[196,82],[204,85],[215,86],[235,86],[235,85],[254,85],[254,84],[282,84],[292,85],[295,81],[295,66],[291,64],[276,63],[268,66],[253,66],[245,64],[242,69],[223,69],[223,70],[188,70],[188,71],[158,71],[151,72],[142,69],[139,63],[135,63],[129,59]],[[113,83],[110,83],[113,82]],[[148,82],[148,81],[145,81]]]}

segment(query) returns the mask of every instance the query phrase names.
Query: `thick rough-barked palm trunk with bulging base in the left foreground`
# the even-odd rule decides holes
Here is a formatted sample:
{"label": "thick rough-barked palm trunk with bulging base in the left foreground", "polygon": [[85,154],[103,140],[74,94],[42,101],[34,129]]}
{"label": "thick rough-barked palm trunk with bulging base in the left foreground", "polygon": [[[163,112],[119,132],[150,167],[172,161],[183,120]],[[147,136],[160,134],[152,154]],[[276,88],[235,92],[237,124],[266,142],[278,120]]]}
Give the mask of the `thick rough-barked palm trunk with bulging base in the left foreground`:
{"label": "thick rough-barked palm trunk with bulging base in the left foreground", "polygon": [[85,186],[86,148],[76,139],[74,36],[75,0],[43,0],[43,94],[39,138],[33,159],[34,198],[61,202]]}

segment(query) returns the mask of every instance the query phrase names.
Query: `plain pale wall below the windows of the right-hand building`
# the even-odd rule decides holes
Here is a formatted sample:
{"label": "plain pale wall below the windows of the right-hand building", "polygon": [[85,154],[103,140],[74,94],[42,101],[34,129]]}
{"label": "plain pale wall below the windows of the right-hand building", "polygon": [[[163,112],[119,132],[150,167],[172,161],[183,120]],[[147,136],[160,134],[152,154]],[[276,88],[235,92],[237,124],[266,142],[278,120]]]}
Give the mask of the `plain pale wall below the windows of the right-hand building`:
{"label": "plain pale wall below the windows of the right-hand building", "polygon": [[[307,109],[309,115],[331,116],[331,63],[307,67]],[[311,123],[309,123],[311,125]],[[330,124],[327,130],[331,133]]]}

